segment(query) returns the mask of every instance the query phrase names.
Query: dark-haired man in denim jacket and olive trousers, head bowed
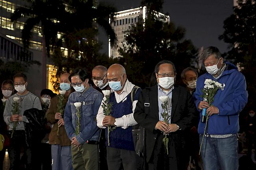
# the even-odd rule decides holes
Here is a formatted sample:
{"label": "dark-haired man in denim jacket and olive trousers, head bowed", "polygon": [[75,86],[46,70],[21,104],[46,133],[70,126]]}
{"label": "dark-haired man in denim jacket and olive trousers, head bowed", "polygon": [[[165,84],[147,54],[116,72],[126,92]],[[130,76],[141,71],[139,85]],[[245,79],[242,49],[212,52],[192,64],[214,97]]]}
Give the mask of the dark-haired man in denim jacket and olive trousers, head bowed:
{"label": "dark-haired man in denim jacket and olive trousers, head bowed", "polygon": [[[72,165],[74,170],[98,170],[97,145],[89,144],[98,141],[99,129],[96,115],[103,95],[88,83],[88,74],[83,69],[75,69],[69,76],[76,92],[69,96],[65,107],[64,122],[71,142]],[[80,102],[80,129],[76,135],[77,120],[74,103]]]}

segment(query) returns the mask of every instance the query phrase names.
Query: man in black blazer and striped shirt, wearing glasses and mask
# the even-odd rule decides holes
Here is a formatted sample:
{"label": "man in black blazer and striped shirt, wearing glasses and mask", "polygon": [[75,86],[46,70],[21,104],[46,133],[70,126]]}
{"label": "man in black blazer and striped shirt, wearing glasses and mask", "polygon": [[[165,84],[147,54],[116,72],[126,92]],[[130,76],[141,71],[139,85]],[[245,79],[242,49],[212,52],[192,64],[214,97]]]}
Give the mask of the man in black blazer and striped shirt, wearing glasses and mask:
{"label": "man in black blazer and striped shirt, wearing glasses and mask", "polygon": [[[171,61],[160,61],[155,67],[158,84],[144,89],[134,111],[134,119],[146,129],[145,153],[149,170],[187,169],[187,130],[197,119],[197,110],[189,91],[174,85],[176,69]],[[168,123],[163,121],[160,96],[168,96]],[[163,138],[169,138],[167,155]]]}

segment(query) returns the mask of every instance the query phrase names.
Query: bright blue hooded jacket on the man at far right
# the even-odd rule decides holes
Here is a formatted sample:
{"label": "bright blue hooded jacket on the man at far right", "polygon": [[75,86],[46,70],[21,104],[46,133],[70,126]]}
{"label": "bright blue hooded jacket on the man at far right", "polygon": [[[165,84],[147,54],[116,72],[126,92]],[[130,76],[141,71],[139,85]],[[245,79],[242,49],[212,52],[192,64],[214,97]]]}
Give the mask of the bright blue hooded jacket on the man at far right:
{"label": "bright blue hooded jacket on the man at far right", "polygon": [[[225,84],[224,90],[219,89],[214,96],[212,105],[219,109],[219,114],[213,114],[208,119],[206,134],[237,134],[239,131],[239,112],[243,110],[247,103],[248,92],[246,90],[245,76],[232,63],[225,63],[226,69],[217,80],[208,72],[197,79],[197,88],[193,94],[197,109],[198,104],[203,100],[202,89],[206,79]],[[198,111],[200,111],[198,133],[204,134],[206,123],[201,122],[202,110]]]}

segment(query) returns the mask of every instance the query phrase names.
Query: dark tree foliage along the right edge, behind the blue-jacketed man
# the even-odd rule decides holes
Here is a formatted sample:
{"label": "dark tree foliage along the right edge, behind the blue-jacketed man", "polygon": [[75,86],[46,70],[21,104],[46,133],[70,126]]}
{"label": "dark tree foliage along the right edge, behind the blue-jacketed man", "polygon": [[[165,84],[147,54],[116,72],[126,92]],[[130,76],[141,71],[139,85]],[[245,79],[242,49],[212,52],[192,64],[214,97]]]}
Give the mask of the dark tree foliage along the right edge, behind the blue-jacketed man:
{"label": "dark tree foliage along the right edge, behind the blue-jacketed man", "polygon": [[237,63],[245,75],[249,93],[248,105],[253,106],[256,96],[256,3],[255,0],[238,0],[234,13],[224,21],[220,40],[229,43],[228,60]]}

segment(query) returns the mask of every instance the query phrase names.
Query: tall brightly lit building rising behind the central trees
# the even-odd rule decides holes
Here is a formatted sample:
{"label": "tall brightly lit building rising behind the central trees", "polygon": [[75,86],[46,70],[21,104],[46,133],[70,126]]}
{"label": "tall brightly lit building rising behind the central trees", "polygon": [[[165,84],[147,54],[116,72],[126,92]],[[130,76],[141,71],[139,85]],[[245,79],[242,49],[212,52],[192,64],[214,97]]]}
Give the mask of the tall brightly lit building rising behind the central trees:
{"label": "tall brightly lit building rising behind the central trees", "polygon": [[[164,16],[165,22],[170,22],[170,17],[156,12],[156,16]],[[123,47],[126,31],[128,31],[132,25],[136,24],[137,22],[145,22],[147,16],[147,7],[137,7],[133,9],[127,9],[124,11],[119,11],[114,14],[113,21],[109,18],[109,23],[112,23],[112,28],[115,31],[117,42],[114,45],[111,45],[109,42],[109,49],[108,55],[109,57],[117,58],[121,57],[118,50],[120,47]],[[142,20],[139,19],[142,18]]]}

